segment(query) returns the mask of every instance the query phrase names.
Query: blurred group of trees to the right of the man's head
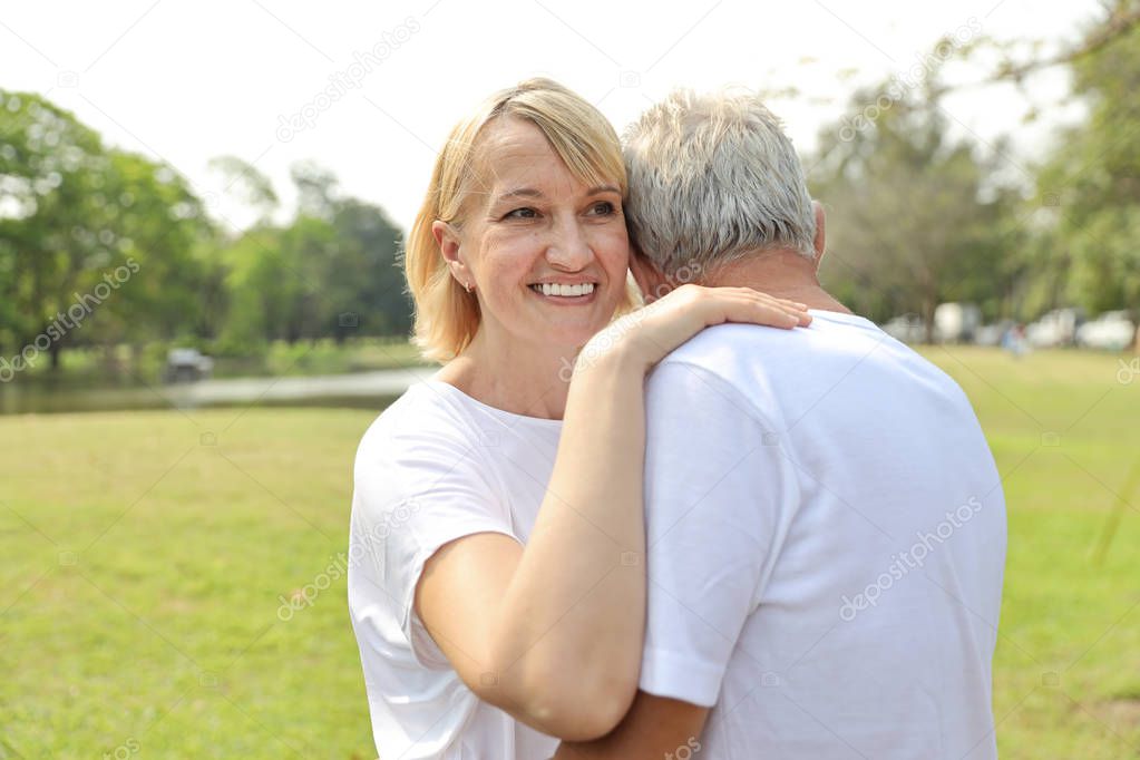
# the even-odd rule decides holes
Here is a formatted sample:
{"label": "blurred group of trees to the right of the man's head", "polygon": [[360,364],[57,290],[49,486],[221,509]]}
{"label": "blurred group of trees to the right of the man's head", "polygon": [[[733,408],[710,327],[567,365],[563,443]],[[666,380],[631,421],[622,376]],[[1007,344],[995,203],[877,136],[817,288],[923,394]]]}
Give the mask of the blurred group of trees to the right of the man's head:
{"label": "blurred group of trees to the right of the man's head", "polygon": [[951,137],[942,68],[994,47],[1009,55],[982,36],[944,39],[921,75],[856,92],[821,131],[808,165],[829,209],[825,284],[880,321],[913,313],[929,326],[937,304],[967,301],[987,319],[1080,307],[1140,322],[1140,2],[1112,2],[1059,56],[1003,57],[988,83],[1069,66],[1088,105],[1034,165],[1012,157],[1012,137]]}

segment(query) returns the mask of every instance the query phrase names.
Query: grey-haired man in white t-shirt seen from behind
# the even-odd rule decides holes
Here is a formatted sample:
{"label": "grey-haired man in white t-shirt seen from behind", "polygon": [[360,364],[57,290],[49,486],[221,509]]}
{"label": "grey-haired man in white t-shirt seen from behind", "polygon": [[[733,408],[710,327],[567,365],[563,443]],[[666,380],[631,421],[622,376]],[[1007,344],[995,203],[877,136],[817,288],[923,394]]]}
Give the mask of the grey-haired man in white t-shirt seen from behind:
{"label": "grey-haired man in white t-shirt seen from behind", "polygon": [[816,278],[823,211],[748,95],[627,136],[635,277],[751,286],[809,328],[723,325],[649,381],[649,618],[622,724],[557,758],[994,758],[1001,480],[962,391]]}

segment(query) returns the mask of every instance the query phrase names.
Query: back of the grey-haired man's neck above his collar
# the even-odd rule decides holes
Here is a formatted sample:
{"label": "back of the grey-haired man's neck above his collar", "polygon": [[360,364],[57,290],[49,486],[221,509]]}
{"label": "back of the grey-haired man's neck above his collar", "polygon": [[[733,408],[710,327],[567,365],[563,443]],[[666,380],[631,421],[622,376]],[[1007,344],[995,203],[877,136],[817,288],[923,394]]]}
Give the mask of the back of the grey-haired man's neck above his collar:
{"label": "back of the grey-haired man's neck above his collar", "polygon": [[717,268],[702,285],[750,287],[777,299],[798,301],[808,309],[852,313],[823,289],[815,262],[795,251],[771,251]]}

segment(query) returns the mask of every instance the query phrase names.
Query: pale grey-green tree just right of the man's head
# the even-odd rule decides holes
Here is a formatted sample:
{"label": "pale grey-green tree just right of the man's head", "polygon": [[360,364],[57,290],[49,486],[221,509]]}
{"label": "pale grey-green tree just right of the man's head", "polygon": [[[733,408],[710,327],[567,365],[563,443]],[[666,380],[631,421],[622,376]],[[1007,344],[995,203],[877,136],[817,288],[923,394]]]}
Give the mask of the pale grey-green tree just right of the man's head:
{"label": "pale grey-green tree just right of the man's head", "polygon": [[885,85],[887,105],[856,92],[862,116],[821,132],[811,182],[828,204],[826,286],[874,319],[920,314],[928,338],[944,301],[1005,308],[1019,265],[1007,223],[1017,194],[993,183],[975,146],[948,137],[931,91]]}

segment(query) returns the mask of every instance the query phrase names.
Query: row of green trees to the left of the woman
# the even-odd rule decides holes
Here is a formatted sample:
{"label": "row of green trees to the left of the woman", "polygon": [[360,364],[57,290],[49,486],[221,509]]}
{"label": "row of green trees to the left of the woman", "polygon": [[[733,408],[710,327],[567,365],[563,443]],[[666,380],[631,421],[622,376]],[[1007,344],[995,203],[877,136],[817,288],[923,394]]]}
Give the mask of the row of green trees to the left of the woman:
{"label": "row of green trees to the left of the woman", "polygon": [[264,177],[236,158],[214,164],[262,212],[244,232],[212,219],[170,166],[106,146],[41,96],[0,89],[0,357],[58,366],[75,346],[181,341],[241,354],[408,333],[400,230],[382,209],[299,164],[299,207],[277,224]]}

